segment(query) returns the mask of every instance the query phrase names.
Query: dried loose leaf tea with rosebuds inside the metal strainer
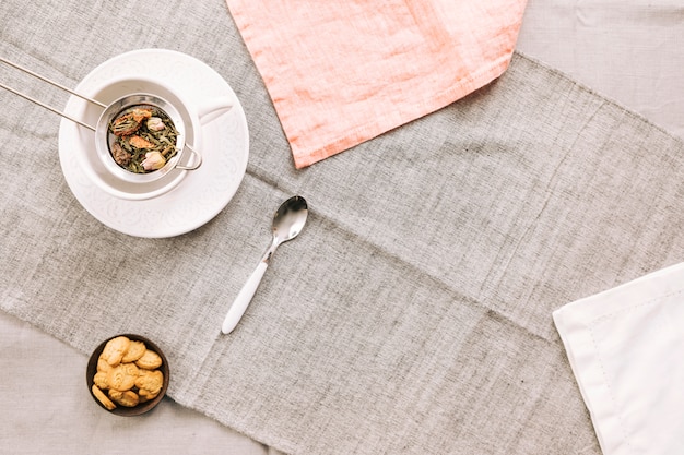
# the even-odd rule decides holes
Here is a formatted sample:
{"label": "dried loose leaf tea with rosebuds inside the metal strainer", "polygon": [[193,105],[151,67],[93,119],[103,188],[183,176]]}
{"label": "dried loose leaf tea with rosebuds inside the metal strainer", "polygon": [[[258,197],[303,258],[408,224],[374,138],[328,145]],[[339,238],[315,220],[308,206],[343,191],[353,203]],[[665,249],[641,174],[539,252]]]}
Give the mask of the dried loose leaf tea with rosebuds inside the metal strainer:
{"label": "dried loose leaf tea with rosebuds inside the metal strainer", "polygon": [[109,151],[123,169],[146,173],[164,167],[176,155],[178,131],[162,109],[138,105],[121,111],[110,123]]}

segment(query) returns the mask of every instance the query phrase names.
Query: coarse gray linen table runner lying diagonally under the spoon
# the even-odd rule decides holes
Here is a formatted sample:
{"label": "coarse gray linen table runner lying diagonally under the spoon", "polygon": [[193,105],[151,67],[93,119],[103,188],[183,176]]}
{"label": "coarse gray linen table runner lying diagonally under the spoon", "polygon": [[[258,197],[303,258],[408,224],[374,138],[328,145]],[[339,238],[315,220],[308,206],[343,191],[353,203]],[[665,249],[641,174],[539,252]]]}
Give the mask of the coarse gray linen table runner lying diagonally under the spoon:
{"label": "coarse gray linen table runner lying diagonally under the spoon", "polygon": [[[59,118],[0,93],[2,310],[84,354],[153,338],[172,398],[286,453],[600,453],[551,313],[681,262],[681,140],[516,55],[465,99],[295,170],[222,1],[68,3],[4,2],[1,53],[71,86],[131,49],[197,57],[245,108],[247,175],[205,226],[130,237],[71,194]],[[292,194],[305,230],[221,335]]]}

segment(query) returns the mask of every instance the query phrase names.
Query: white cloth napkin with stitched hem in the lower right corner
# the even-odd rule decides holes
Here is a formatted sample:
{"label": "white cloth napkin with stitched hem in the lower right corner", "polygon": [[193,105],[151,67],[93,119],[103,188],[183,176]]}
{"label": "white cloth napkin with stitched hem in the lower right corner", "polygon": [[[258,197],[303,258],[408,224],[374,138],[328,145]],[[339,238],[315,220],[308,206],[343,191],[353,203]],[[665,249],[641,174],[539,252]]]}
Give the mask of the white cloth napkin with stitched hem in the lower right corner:
{"label": "white cloth napkin with stitched hem in the lower right corner", "polygon": [[684,263],[553,318],[604,455],[684,454]]}

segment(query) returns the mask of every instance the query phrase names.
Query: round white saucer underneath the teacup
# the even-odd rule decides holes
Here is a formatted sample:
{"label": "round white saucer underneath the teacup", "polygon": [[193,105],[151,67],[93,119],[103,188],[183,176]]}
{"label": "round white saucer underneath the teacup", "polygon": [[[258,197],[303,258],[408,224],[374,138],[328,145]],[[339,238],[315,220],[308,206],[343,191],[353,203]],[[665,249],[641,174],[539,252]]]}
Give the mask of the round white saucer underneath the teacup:
{"label": "round white saucer underneath the teacup", "polygon": [[[115,197],[89,180],[76,151],[89,147],[94,153],[94,134],[62,119],[59,159],[67,183],[91,215],[120,232],[165,238],[197,229],[231,202],[245,177],[249,156],[245,111],[231,86],[212,68],[193,57],[164,49],[134,50],[107,60],[86,75],[75,92],[92,96],[107,81],[126,77],[163,81],[184,99],[198,104],[229,97],[233,108],[193,132],[196,144],[201,144],[202,166],[188,171],[182,182],[168,193],[144,201]],[[64,111],[82,110],[83,103],[72,96]]]}

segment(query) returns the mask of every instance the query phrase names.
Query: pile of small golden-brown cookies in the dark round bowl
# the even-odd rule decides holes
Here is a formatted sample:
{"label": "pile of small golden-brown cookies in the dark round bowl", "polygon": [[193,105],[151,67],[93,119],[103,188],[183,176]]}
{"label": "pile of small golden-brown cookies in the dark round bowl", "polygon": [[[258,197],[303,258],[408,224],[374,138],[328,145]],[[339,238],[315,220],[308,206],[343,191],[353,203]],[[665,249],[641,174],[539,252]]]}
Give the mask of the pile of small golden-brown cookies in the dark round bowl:
{"label": "pile of small golden-brown cookies in the dark round bowl", "polygon": [[149,402],[162,391],[161,366],[162,357],[143,342],[126,336],[111,338],[97,359],[93,395],[109,410],[117,405],[135,407]]}

